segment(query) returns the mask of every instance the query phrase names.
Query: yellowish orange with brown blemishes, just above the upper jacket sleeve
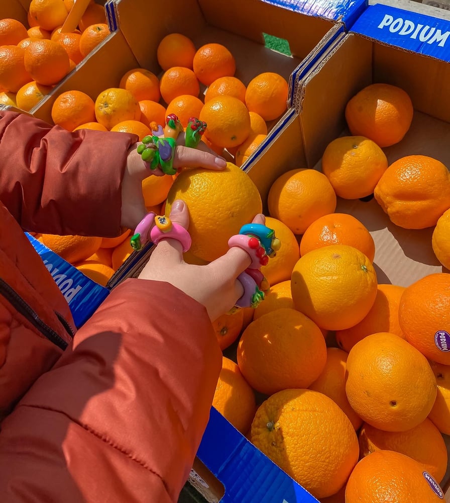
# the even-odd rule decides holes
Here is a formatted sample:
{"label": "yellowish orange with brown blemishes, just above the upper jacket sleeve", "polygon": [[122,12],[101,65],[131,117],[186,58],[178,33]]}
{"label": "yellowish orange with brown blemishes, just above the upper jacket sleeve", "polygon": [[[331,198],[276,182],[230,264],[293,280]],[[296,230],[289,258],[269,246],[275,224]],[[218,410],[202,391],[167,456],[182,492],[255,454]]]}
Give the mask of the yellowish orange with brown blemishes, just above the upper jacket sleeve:
{"label": "yellowish orange with brown blemishes, just above the upper jacket sleeve", "polygon": [[106,129],[111,129],[119,122],[138,121],[140,117],[139,103],[126,89],[106,89],[95,100],[95,118]]}

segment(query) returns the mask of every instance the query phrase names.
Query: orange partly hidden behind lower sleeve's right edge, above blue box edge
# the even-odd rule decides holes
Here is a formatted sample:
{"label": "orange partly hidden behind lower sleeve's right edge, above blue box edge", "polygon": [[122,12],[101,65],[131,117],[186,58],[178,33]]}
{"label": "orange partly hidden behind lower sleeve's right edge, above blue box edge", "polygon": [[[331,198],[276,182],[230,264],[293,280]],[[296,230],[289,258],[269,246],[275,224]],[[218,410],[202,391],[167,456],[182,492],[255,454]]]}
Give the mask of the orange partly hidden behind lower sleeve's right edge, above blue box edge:
{"label": "orange partly hidden behind lower sleeve's right edge, above blue box edge", "polygon": [[212,406],[242,434],[248,432],[256,411],[255,394],[236,363],[226,357],[222,357]]}

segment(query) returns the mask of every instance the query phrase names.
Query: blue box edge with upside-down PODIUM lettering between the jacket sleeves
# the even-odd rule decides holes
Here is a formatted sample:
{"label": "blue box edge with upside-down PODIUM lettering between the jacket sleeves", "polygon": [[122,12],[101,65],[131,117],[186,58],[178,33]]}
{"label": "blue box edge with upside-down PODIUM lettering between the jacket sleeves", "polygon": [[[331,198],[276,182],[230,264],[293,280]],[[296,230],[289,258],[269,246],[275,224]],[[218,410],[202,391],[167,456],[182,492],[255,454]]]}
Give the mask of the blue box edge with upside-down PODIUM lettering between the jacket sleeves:
{"label": "blue box edge with upside-down PODIUM lettering between the jacket sleeves", "polygon": [[28,232],[25,234],[63,293],[69,304],[73,321],[79,328],[92,316],[95,309],[108,295],[109,290],[78,271]]}

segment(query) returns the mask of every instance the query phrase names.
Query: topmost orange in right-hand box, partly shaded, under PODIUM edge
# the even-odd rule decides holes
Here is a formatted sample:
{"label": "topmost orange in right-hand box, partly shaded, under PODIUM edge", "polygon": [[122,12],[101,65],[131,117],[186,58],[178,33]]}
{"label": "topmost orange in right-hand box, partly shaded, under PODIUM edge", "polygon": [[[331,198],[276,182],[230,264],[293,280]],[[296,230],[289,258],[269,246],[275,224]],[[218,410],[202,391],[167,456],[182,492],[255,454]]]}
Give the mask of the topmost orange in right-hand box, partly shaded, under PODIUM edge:
{"label": "topmost orange in right-hand box, partly shaded, under PODIUM edge", "polygon": [[365,136],[380,147],[398,143],[411,125],[414,109],[408,94],[389,84],[372,84],[346,106],[346,120],[354,136]]}

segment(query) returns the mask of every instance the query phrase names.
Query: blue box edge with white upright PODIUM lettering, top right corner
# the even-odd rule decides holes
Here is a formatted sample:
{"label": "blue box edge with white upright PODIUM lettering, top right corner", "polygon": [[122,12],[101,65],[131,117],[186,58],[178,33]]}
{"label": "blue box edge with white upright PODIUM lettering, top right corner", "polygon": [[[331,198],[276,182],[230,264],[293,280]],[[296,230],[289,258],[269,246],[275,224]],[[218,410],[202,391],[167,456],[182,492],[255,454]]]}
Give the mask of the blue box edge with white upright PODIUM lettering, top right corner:
{"label": "blue box edge with white upright PODIUM lettering, top right corner", "polygon": [[450,62],[450,22],[383,4],[369,6],[352,32]]}

